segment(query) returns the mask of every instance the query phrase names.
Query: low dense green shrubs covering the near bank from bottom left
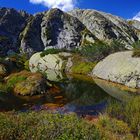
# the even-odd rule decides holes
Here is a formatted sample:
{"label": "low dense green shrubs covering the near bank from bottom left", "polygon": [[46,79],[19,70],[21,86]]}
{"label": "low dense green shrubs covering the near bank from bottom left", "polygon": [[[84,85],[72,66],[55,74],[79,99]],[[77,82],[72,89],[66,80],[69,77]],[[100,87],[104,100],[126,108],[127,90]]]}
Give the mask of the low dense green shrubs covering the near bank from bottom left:
{"label": "low dense green shrubs covering the near bank from bottom left", "polygon": [[75,114],[60,115],[45,111],[0,113],[2,140],[102,140],[99,130]]}

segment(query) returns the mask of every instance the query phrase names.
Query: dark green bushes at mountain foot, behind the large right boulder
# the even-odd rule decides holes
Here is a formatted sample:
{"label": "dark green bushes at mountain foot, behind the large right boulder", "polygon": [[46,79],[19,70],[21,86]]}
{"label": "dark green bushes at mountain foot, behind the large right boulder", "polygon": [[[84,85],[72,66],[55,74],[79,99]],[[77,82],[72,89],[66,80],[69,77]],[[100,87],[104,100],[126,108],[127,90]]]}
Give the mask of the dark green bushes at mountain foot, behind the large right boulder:
{"label": "dark green bushes at mountain foot, behind the large right boulder", "polygon": [[83,56],[87,57],[90,61],[100,61],[111,53],[124,50],[124,45],[120,41],[112,41],[110,45],[96,41],[91,43],[87,40],[84,41],[82,49],[79,51]]}

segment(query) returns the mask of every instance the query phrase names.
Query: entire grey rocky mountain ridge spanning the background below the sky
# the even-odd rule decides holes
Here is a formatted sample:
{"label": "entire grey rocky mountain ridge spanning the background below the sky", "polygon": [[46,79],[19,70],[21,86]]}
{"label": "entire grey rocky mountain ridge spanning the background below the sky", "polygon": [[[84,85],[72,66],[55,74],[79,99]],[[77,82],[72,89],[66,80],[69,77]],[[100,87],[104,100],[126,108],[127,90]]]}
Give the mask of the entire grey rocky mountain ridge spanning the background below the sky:
{"label": "entire grey rocky mountain ridge spanning the background below the sky", "polygon": [[96,10],[75,9],[68,13],[51,9],[35,15],[0,8],[0,55],[33,53],[47,47],[73,49],[84,42],[118,40],[124,48],[140,39],[140,23]]}

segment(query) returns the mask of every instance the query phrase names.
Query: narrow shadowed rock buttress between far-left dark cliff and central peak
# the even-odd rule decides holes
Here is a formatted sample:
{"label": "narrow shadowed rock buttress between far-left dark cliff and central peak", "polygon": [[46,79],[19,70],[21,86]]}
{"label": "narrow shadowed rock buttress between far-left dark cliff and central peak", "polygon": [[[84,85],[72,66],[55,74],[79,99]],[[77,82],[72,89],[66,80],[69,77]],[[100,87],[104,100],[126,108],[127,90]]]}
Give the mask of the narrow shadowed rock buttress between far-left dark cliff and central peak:
{"label": "narrow shadowed rock buttress between far-left dark cliff and central peak", "polygon": [[41,40],[41,22],[43,14],[32,16],[28,20],[28,24],[20,34],[20,50],[22,53],[27,53],[29,56],[35,52],[44,49]]}

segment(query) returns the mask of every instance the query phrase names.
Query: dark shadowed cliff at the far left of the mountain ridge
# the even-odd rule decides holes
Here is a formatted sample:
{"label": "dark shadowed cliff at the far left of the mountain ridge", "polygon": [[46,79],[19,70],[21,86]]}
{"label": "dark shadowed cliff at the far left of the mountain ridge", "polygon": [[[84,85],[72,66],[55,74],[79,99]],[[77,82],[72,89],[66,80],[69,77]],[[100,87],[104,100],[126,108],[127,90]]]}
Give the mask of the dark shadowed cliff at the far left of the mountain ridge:
{"label": "dark shadowed cliff at the far left of the mountain ridge", "polygon": [[18,52],[18,38],[30,17],[24,11],[0,8],[0,56]]}

